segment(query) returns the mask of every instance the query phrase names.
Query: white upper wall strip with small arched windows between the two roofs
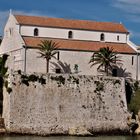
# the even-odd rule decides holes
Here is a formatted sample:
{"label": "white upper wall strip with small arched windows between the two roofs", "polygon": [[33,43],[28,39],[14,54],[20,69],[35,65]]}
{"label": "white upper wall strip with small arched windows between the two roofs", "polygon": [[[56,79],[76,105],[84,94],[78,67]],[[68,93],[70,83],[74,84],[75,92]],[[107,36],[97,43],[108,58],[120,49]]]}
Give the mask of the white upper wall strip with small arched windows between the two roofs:
{"label": "white upper wall strip with small arched windows between the two roofs", "polygon": [[[98,32],[98,31],[48,28],[48,27],[36,27],[36,26],[22,26],[21,35],[33,36],[35,28],[38,28],[39,30],[39,37],[68,39],[68,32],[72,31],[73,39],[76,40],[100,41],[100,35],[101,33],[104,33],[106,42],[126,43],[127,41],[126,33]],[[119,41],[117,40],[117,36],[119,36]]]}

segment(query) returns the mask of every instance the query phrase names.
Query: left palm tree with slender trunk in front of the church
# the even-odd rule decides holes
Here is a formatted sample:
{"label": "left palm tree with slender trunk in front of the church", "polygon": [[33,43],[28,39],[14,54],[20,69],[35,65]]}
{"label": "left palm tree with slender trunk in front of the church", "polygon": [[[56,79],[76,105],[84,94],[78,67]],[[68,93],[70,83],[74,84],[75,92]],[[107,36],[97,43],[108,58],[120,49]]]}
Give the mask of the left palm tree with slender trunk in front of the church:
{"label": "left palm tree with slender trunk in front of the church", "polygon": [[52,40],[44,40],[41,41],[41,44],[38,44],[40,47],[39,54],[41,55],[40,57],[46,59],[46,73],[49,72],[49,61],[50,59],[56,58],[54,55],[58,53],[56,50],[58,49],[58,44],[53,42]]}

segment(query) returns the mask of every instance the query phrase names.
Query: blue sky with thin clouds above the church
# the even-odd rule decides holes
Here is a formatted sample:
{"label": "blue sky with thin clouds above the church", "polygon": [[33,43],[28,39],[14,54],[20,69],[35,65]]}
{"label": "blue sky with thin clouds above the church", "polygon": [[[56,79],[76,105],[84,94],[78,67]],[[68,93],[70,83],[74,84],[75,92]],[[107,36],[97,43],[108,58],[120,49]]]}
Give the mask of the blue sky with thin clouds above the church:
{"label": "blue sky with thin clouds above the church", "polygon": [[9,9],[15,14],[121,22],[140,45],[140,0],[0,0],[0,34]]}

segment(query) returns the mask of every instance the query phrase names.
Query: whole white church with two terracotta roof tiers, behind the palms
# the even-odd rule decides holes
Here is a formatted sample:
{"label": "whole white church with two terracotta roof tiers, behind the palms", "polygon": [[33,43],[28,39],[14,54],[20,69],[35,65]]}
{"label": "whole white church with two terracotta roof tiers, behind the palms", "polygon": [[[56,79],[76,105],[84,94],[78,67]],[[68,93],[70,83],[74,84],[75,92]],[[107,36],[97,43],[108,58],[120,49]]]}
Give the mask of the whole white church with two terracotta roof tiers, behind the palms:
{"label": "whole white church with two terracotta roof tiers, behind the palms", "polygon": [[51,59],[50,73],[100,75],[89,61],[94,52],[109,47],[122,60],[122,65],[114,68],[115,75],[140,79],[139,53],[123,24],[10,14],[0,54],[9,54],[11,71],[45,73],[46,61],[38,53],[42,40],[59,46],[57,59]]}

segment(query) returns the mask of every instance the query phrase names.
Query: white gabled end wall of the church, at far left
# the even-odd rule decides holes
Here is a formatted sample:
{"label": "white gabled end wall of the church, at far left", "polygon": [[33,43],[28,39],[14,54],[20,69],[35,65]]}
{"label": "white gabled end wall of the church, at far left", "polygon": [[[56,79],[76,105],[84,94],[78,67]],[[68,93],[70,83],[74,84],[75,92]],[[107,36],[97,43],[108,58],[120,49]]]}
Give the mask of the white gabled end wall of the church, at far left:
{"label": "white gabled end wall of the church, at far left", "polygon": [[0,45],[0,54],[7,53],[9,55],[7,65],[9,71],[19,70],[24,71],[25,45],[20,33],[20,26],[15,17],[10,14],[7,24],[4,28],[4,37]]}

